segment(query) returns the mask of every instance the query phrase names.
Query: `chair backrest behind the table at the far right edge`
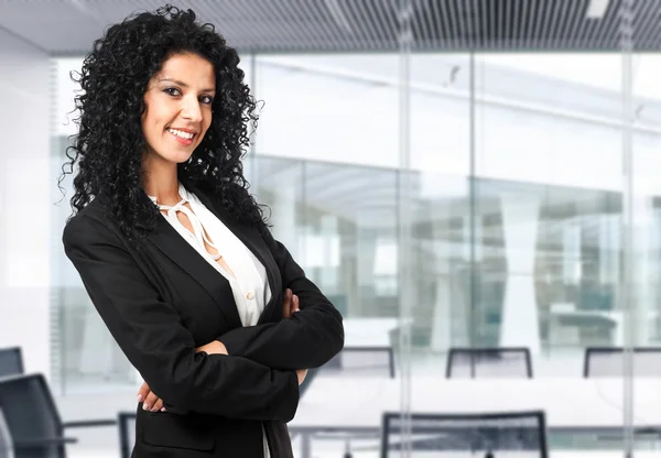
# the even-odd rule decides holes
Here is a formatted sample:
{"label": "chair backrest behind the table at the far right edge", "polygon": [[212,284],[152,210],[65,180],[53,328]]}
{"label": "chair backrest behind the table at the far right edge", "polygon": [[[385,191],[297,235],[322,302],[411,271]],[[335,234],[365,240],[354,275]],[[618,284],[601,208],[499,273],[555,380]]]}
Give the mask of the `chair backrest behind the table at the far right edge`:
{"label": "chair backrest behind the table at the far right edge", "polygon": [[[622,347],[588,347],[585,349],[583,377],[622,377],[625,352]],[[633,348],[633,374],[661,377],[661,347]]]}

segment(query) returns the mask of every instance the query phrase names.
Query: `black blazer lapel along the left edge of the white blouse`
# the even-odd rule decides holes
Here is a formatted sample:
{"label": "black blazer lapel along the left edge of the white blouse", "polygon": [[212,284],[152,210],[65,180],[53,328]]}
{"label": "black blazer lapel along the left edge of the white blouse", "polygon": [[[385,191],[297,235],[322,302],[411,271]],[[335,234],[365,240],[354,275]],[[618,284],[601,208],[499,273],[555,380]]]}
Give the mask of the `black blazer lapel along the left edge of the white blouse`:
{"label": "black blazer lapel along the left edge of the white blouse", "polygon": [[[149,199],[147,195],[144,197]],[[149,233],[148,239],[209,293],[225,316],[228,326],[232,328],[241,327],[241,318],[239,317],[234,296],[218,297],[216,285],[218,282],[227,283],[227,280],[209,265],[208,261],[202,258],[170,222],[164,219],[159,220],[156,228]],[[229,284],[228,287],[230,287]]]}

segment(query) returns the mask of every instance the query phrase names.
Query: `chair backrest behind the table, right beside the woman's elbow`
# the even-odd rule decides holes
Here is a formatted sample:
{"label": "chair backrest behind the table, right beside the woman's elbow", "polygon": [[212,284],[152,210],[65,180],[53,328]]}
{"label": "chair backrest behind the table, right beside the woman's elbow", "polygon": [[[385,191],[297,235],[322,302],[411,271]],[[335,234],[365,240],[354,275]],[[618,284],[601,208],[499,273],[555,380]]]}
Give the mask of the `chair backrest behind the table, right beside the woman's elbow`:
{"label": "chair backrest behind the table, right beside the woman's elbow", "polygon": [[394,379],[392,347],[345,347],[321,369],[324,375],[386,375]]}

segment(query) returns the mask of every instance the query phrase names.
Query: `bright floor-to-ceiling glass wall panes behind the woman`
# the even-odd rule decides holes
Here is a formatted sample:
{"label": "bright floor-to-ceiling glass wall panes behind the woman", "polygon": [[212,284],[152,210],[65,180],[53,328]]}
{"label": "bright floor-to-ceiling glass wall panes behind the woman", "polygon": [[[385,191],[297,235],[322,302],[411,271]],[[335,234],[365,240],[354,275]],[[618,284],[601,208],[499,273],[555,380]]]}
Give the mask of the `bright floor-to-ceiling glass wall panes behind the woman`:
{"label": "bright floor-to-ceiling glass wall panes behind the woman", "polygon": [[[563,370],[551,374],[578,372],[584,347],[624,345],[620,57],[473,58],[472,74],[467,54],[411,57],[411,168],[404,171],[397,55],[245,56],[264,100],[247,175],[272,209],[277,237],[347,317],[400,316],[398,194],[408,195],[413,357],[433,360],[451,346],[524,346],[541,371],[562,360]],[[641,74],[661,64],[655,55],[636,59]],[[64,122],[68,73],[80,61],[54,64]],[[481,81],[473,95],[472,78]],[[600,86],[588,84],[595,80]],[[661,105],[659,89],[639,87],[636,183],[646,187],[636,209],[644,218],[637,228],[636,338],[654,345],[661,329],[654,110]],[[52,138],[53,176],[74,129],[62,123]],[[411,187],[401,189],[405,173]],[[53,200],[58,193],[52,189]],[[51,211],[56,239],[69,208]],[[54,374],[71,389],[95,377],[128,381],[128,366],[57,241],[52,262]],[[98,358],[99,351],[115,357]]]}

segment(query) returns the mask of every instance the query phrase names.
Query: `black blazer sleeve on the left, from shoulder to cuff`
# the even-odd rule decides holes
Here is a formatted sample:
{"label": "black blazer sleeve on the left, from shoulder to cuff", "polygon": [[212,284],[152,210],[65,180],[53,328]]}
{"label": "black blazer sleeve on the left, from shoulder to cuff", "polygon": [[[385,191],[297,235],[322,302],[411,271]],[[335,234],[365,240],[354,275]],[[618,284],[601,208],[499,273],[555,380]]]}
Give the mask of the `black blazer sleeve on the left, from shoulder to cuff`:
{"label": "black blazer sleeve on the left, from shoulder to cuff", "polygon": [[282,422],[294,417],[295,372],[237,356],[196,353],[178,313],[106,225],[94,217],[74,218],[64,229],[63,243],[112,337],[174,412]]}

